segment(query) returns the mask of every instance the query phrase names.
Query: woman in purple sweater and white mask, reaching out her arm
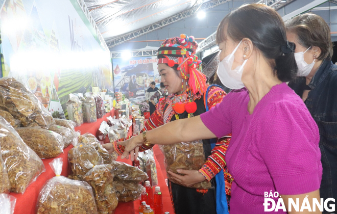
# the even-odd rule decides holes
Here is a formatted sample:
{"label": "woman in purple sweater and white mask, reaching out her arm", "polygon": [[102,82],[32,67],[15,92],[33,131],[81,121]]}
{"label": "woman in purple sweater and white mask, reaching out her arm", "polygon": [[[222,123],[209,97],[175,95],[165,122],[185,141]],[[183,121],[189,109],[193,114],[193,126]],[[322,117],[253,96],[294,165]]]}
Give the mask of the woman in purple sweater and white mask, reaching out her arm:
{"label": "woman in purple sweater and white mask, reaching out her arm", "polygon": [[[300,208],[308,201],[313,209],[313,199],[320,202],[322,178],[319,131],[302,99],[285,83],[296,76],[297,66],[295,44],[286,40],[281,17],[264,5],[240,7],[222,20],[216,40],[221,50],[218,75],[226,87],[237,90],[200,116],[122,142],[122,158],[129,152],[133,158],[133,149],[137,155],[144,142],[174,144],[232,133],[226,152],[234,178],[231,214],[264,213],[272,206],[265,204],[266,193],[273,193],[269,199],[275,204],[278,194],[282,198],[286,210],[277,213],[296,213],[294,207],[288,210],[288,199],[296,203],[298,198]],[[175,178],[184,182],[184,176]]]}

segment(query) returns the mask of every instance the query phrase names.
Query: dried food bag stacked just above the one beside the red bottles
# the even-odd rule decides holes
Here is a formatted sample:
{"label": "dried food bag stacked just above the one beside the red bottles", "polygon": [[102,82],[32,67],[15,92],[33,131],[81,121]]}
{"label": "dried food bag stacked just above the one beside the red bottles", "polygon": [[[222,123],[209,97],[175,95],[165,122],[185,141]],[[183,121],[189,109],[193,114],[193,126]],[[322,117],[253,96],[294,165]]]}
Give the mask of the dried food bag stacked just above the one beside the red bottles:
{"label": "dried food bag stacked just above the one beside the red bottles", "polygon": [[114,162],[114,165],[115,178],[119,180],[133,181],[139,183],[149,178],[145,172],[126,163]]}

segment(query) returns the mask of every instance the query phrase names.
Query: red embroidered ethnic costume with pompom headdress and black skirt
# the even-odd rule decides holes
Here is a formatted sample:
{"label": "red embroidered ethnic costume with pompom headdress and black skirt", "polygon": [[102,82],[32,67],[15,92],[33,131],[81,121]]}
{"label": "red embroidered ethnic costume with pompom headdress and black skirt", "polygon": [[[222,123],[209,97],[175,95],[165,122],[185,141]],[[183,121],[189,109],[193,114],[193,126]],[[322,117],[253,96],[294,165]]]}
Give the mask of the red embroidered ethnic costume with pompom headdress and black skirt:
{"label": "red embroidered ethnic costume with pompom headdress and black skirt", "polygon": [[[179,65],[178,69],[181,72],[183,80],[188,81],[187,90],[181,94],[172,94],[168,97],[161,99],[157,105],[156,111],[151,115],[150,119],[145,124],[145,130],[151,130],[159,127],[170,121],[176,119],[188,118],[191,116],[198,116],[206,112],[206,105],[211,109],[215,104],[220,103],[226,93],[218,87],[210,87],[208,91],[207,100],[205,92],[207,90],[205,76],[197,70],[201,61],[194,56],[197,49],[197,43],[185,36],[181,38],[175,37],[167,39],[163,42],[161,48],[158,50],[159,63],[165,63],[170,67]],[[182,42],[184,40],[185,42]],[[185,46],[183,44],[186,43]],[[180,50],[179,50],[180,49]],[[177,57],[175,53],[184,53],[184,56]],[[182,83],[183,84],[183,83]],[[205,105],[206,103],[206,105]],[[179,106],[179,108],[177,108]],[[187,107],[187,108],[186,108]],[[129,139],[129,138],[127,138]],[[127,140],[121,139],[121,141]],[[210,141],[203,140],[203,148],[207,161],[204,166],[199,170],[204,175],[207,181],[215,183],[215,175],[224,169],[226,190],[225,193],[230,195],[230,185],[232,177],[228,174],[225,162],[225,153],[229,144],[230,135],[216,142],[214,149],[211,149]],[[153,145],[152,145],[153,146]],[[152,148],[152,146],[142,145],[139,147],[140,151],[145,151]],[[124,152],[124,147],[117,145],[114,142],[115,151],[119,154]],[[196,190],[186,188],[168,182],[171,199],[176,214],[194,214],[194,213],[216,213],[216,192],[215,189],[210,190]],[[225,195],[225,193],[223,193]],[[226,199],[225,199],[226,200]],[[222,210],[218,213],[228,213],[228,210]]]}

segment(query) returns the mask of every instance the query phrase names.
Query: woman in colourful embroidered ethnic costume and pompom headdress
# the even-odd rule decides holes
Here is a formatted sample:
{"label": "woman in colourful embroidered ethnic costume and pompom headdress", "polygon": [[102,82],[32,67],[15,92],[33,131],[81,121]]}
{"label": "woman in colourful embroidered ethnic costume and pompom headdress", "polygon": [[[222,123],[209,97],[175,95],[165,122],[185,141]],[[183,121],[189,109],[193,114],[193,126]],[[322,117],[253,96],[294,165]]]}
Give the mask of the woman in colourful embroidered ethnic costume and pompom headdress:
{"label": "woman in colourful embroidered ethnic costume and pompom headdress", "polygon": [[[170,121],[198,116],[220,103],[226,93],[220,87],[206,85],[206,76],[197,70],[201,61],[195,56],[198,43],[194,37],[185,34],[166,39],[158,50],[158,71],[161,82],[171,95],[159,101],[156,111],[146,122],[143,131],[151,130]],[[206,96],[206,91],[208,91]],[[207,97],[207,103],[205,105]],[[120,139],[119,141],[125,141]],[[211,148],[211,139],[202,140],[206,163],[198,170],[178,170],[181,175],[168,172],[175,180],[168,182],[176,214],[228,213],[226,200],[230,197],[232,177],[227,172],[225,152],[230,135],[218,139]],[[213,144],[213,145],[214,145]],[[139,151],[151,149],[153,145],[143,144]],[[105,144],[109,152],[119,155],[124,147],[117,142]],[[133,160],[133,155],[131,156]],[[223,172],[221,172],[224,170]],[[221,173],[220,173],[221,172]],[[219,173],[219,174],[218,174]],[[218,175],[217,175],[218,174]],[[215,176],[219,176],[216,177]],[[209,181],[214,188],[197,190],[187,188],[202,181]],[[225,181],[225,182],[224,182]],[[225,183],[225,184],[220,184]]]}

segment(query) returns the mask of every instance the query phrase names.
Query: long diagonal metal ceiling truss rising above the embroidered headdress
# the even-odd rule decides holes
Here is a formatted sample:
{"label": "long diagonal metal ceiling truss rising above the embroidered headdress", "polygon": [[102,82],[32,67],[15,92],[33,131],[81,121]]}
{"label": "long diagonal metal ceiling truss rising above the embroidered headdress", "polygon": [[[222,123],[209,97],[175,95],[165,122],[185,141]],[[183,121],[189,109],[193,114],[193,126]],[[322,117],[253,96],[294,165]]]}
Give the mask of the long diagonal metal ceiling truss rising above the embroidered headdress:
{"label": "long diagonal metal ceiling truss rising above the embroidered headdress", "polygon": [[108,47],[111,48],[111,47],[114,47],[116,45],[122,44],[122,43],[124,43],[126,41],[129,41],[131,39],[137,38],[137,37],[139,37],[141,35],[144,35],[144,34],[147,34],[149,32],[152,32],[152,31],[155,31],[157,29],[160,29],[163,26],[166,26],[168,24],[172,24],[174,22],[177,22],[177,21],[180,21],[180,20],[182,20],[184,18],[192,16],[197,11],[208,10],[208,9],[217,7],[217,6],[222,5],[222,4],[224,4],[226,2],[229,2],[229,1],[232,1],[232,0],[213,0],[213,1],[210,1],[210,2],[206,2],[206,3],[203,3],[204,0],[198,0],[197,3],[194,5],[194,7],[192,7],[192,9],[184,11],[184,12],[179,13],[177,15],[171,16],[171,17],[166,18],[164,20],[158,21],[158,22],[156,22],[154,24],[145,26],[142,29],[138,29],[138,30],[133,31],[131,33],[125,34],[125,35],[123,35],[121,37],[115,38],[115,39],[111,40],[110,42],[107,42],[108,43]]}

